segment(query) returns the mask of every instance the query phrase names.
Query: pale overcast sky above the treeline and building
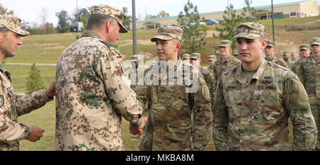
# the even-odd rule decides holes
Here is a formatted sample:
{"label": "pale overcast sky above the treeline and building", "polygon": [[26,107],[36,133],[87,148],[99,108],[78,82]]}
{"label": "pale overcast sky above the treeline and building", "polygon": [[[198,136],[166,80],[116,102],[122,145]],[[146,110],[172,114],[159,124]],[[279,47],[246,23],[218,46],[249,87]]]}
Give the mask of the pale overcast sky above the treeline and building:
{"label": "pale overcast sky above the treeline and building", "polygon": [[[292,1],[301,0],[274,0],[273,3],[282,4]],[[156,15],[161,10],[169,13],[170,16],[178,16],[187,2],[188,0],[136,0],[136,16],[144,19],[146,13]],[[199,13],[224,11],[228,6],[227,0],[191,0],[191,2],[198,6]],[[55,13],[65,10],[71,15],[75,12],[77,0],[0,0],[0,4],[13,10],[16,16],[29,23],[40,24],[41,13],[46,11],[47,22],[57,25],[58,18]],[[106,4],[119,9],[125,6],[129,9],[129,15],[132,15],[132,0],[78,0],[78,8],[87,8],[94,4]],[[229,4],[233,4],[234,8],[242,8],[245,1],[229,0]],[[270,4],[271,0],[252,0],[252,6]]]}

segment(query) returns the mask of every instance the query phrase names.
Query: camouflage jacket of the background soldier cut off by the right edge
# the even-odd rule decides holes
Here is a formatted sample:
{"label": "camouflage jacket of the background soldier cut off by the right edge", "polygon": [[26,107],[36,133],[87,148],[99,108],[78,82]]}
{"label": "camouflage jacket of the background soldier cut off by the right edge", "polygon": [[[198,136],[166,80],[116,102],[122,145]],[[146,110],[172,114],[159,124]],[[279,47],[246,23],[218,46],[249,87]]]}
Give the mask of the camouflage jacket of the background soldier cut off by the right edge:
{"label": "camouflage jacket of the background soldier cut off by the right edge", "polygon": [[320,106],[320,61],[316,62],[312,55],[302,59],[297,65],[297,75],[304,84],[310,104]]}

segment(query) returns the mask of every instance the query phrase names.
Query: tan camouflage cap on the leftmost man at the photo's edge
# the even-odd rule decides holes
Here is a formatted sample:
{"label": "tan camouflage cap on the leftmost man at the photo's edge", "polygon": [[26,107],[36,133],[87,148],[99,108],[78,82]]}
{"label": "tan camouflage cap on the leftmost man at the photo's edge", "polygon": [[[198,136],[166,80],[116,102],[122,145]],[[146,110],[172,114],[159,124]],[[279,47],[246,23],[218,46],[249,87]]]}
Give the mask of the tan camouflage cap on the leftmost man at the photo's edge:
{"label": "tan camouflage cap on the leftmost man at the photo's edge", "polygon": [[30,35],[26,30],[21,29],[21,19],[16,16],[0,15],[0,28],[7,28],[18,35]]}

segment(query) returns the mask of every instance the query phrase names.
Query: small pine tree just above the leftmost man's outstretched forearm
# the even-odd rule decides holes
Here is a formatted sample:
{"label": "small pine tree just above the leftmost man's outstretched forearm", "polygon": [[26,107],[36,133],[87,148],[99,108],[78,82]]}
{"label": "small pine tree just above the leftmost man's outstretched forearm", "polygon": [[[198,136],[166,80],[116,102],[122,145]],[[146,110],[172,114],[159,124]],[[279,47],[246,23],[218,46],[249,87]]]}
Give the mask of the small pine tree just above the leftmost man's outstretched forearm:
{"label": "small pine tree just above the leftmost man's outstretched forearm", "polygon": [[31,66],[31,71],[27,77],[27,92],[26,94],[31,94],[33,91],[38,91],[44,89],[43,81],[41,81],[40,71],[36,67],[36,64],[33,63]]}

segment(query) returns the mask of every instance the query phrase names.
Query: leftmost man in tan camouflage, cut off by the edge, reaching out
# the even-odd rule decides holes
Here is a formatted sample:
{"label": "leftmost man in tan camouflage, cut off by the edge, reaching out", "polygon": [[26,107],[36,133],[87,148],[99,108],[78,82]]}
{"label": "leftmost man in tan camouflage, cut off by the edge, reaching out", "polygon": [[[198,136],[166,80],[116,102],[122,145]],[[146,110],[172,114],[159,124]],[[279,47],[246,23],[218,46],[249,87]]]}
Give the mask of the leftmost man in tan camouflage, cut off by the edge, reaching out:
{"label": "leftmost man in tan camouflage, cut off by the edge, reaching out", "polygon": [[36,125],[18,123],[18,116],[41,108],[55,95],[55,81],[46,90],[30,95],[18,95],[14,91],[11,74],[1,62],[4,57],[16,55],[22,45],[21,37],[26,35],[30,33],[21,29],[20,18],[0,16],[0,151],[18,151],[21,140],[40,140],[44,130]]}

